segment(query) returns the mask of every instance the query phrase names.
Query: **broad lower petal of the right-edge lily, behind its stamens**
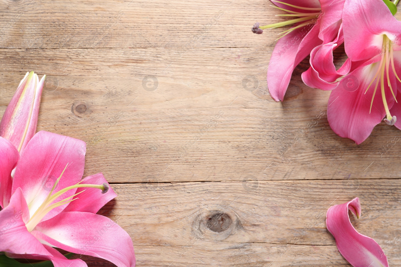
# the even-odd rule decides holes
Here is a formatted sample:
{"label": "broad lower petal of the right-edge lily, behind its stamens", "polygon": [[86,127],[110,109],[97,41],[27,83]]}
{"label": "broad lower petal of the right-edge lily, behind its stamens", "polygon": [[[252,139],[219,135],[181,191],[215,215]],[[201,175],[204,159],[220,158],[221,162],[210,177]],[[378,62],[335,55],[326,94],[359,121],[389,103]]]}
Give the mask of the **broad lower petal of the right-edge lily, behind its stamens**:
{"label": "broad lower petal of the right-edge lily, behind its stamens", "polygon": [[[330,127],[340,137],[352,139],[356,144],[365,141],[373,128],[383,120],[386,114],[381,98],[380,84],[377,88],[370,114],[369,109],[375,82],[365,94],[367,86],[379,67],[378,60],[380,60],[379,57],[366,61],[350,72],[350,74],[340,81],[338,87],[332,90],[328,100],[327,119]],[[371,65],[373,62],[376,63]],[[390,76],[390,81],[393,88],[396,88],[394,76]],[[350,85],[348,86],[348,84]],[[387,103],[389,108],[391,108],[395,101],[391,97],[392,95],[389,86],[387,86],[386,78],[384,85],[385,94],[388,96]],[[353,86],[358,86],[358,88],[355,90]],[[397,90],[395,90],[394,94],[397,96]]]}

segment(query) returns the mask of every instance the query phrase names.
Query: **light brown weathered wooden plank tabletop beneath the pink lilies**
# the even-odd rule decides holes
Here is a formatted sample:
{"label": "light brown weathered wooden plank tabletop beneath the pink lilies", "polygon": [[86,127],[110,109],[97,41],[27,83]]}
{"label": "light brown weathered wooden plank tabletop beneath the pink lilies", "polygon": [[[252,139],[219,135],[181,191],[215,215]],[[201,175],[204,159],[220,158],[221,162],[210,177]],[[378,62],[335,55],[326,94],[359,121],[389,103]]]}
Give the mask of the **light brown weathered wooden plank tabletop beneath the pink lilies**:
{"label": "light brown weathered wooden plank tabletop beneath the pink lilies", "polygon": [[330,92],[300,78],[308,59],[273,101],[280,29],[251,32],[280,20],[269,4],[1,3],[0,114],[26,71],[48,75],[38,130],[86,141],[85,176],[103,172],[118,194],[99,213],[130,234],[137,266],[349,266],[325,214],[354,197],[354,227],[401,265],[401,132],[334,134]]}

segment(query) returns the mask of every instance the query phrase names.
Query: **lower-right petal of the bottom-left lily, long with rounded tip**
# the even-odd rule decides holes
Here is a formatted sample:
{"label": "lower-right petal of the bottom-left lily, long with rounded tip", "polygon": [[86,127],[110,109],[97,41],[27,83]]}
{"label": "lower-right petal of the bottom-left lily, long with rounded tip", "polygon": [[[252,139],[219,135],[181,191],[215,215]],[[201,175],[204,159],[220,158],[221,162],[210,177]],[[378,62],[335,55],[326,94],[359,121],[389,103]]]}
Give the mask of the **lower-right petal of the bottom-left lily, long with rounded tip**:
{"label": "lower-right petal of the bottom-left lily, long with rounded tip", "polygon": [[62,212],[39,223],[31,233],[66,251],[106,259],[118,267],[135,266],[131,237],[117,223],[98,214]]}

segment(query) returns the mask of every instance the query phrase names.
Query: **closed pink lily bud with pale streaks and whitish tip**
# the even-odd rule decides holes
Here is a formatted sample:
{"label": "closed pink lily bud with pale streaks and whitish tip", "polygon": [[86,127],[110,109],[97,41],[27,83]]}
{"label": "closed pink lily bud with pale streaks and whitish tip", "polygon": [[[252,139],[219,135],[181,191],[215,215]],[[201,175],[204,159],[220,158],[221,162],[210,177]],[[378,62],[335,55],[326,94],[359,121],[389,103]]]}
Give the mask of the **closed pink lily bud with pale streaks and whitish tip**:
{"label": "closed pink lily bud with pale streaks and whitish tip", "polygon": [[39,106],[46,75],[39,81],[26,72],[0,122],[0,136],[11,141],[20,153],[36,133]]}

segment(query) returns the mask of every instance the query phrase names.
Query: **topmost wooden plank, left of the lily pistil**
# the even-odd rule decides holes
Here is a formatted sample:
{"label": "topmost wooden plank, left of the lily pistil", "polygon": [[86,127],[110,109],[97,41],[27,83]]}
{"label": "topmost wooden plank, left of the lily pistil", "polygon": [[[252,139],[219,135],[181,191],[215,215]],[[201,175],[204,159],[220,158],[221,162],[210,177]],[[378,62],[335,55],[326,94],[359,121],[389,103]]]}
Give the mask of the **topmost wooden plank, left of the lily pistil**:
{"label": "topmost wooden plank, left of the lily pistil", "polygon": [[0,47],[5,48],[170,47],[181,53],[251,47],[261,40],[251,32],[256,21],[284,20],[272,16],[278,13],[269,2],[245,0],[20,0],[2,4],[2,10]]}

